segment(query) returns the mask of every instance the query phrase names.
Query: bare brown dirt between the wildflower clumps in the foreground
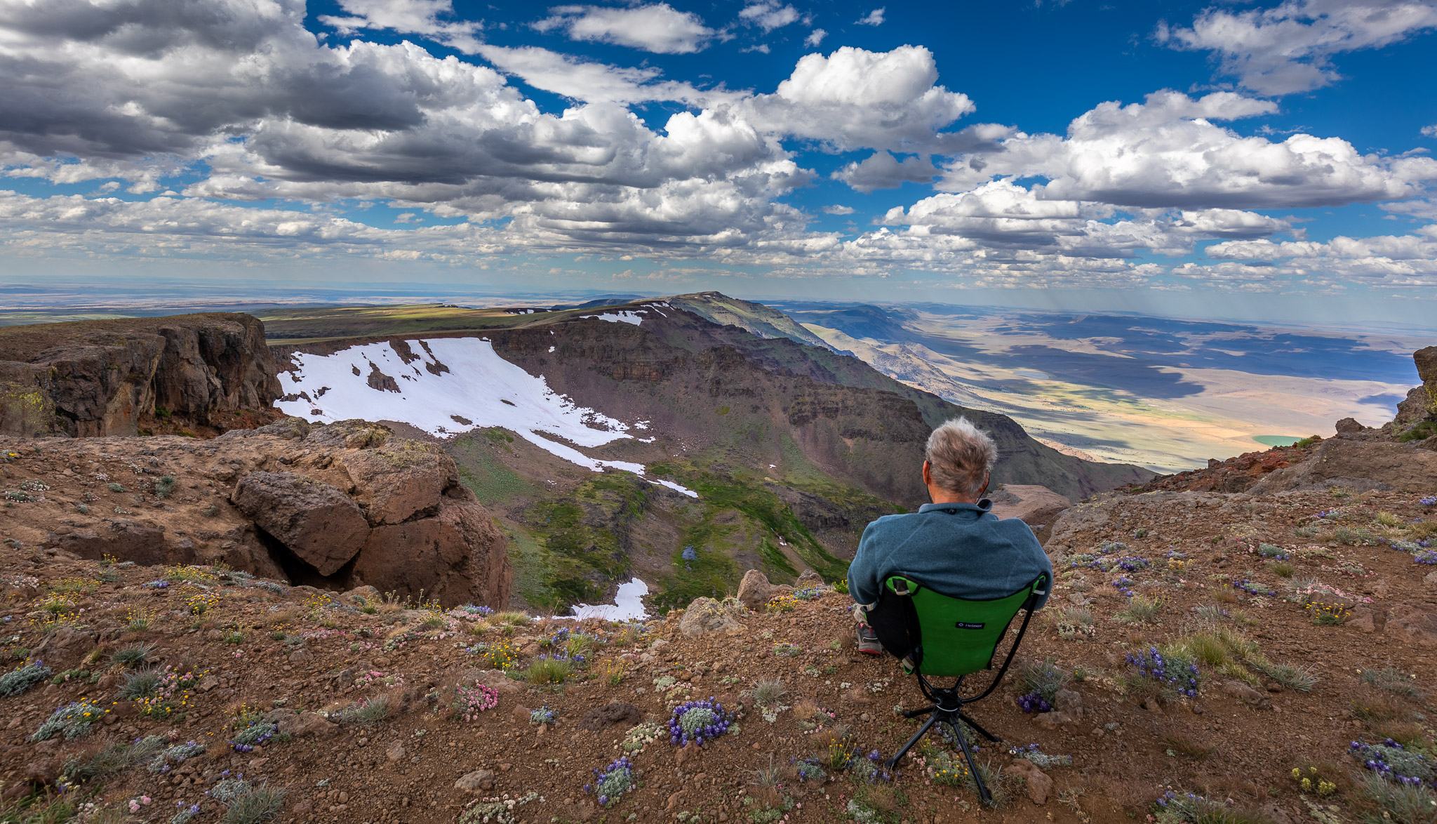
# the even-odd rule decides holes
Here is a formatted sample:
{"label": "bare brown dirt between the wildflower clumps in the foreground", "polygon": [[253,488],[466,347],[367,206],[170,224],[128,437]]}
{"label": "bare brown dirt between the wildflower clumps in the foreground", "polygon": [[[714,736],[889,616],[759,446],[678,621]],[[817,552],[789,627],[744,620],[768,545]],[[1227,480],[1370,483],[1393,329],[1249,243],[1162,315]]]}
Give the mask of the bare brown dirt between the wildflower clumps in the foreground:
{"label": "bare brown dirt between the wildflower clumps in the foreground", "polygon": [[[1332,509],[1338,512],[1315,518]],[[514,807],[514,821],[749,821],[764,798],[772,802],[783,795],[793,804],[790,821],[838,821],[846,820],[844,808],[856,795],[881,808],[874,820],[931,824],[1142,820],[1154,798],[1173,789],[1230,800],[1230,807],[1253,811],[1252,821],[1283,823],[1306,820],[1306,804],[1319,801],[1299,795],[1290,777],[1295,766],[1311,765],[1338,785],[1321,804],[1335,807],[1338,820],[1354,820],[1369,810],[1355,789],[1362,769],[1346,754],[1351,741],[1394,736],[1428,752],[1434,746],[1437,567],[1414,564],[1411,554],[1377,542],[1431,538],[1437,535],[1433,516],[1433,506],[1397,492],[1345,498],[1329,492],[1272,498],[1157,492],[1109,495],[1075,508],[1055,525],[1062,549],[1050,542],[1049,551],[1056,554],[1059,585],[1035,618],[1020,657],[1052,659],[1068,673],[1081,667],[1068,683],[1081,700],[1079,718],[1069,720],[1071,696],[1065,718],[1020,712],[1016,697],[1025,687],[1017,672],[973,708],[976,719],[1004,738],[1003,745],[984,745],[980,752],[992,766],[1015,775],[1019,771],[1007,748],[1029,743],[1039,743],[1045,754],[1071,755],[1073,764],[1043,771],[1052,789],[1042,810],[1009,778],[1004,785],[1013,800],[996,811],[980,810],[966,789],[938,785],[914,761],[905,761],[891,784],[868,784],[852,769],[831,771],[821,785],[796,784],[790,777],[777,791],[753,784],[754,769],[769,766],[770,755],[773,765],[787,768],[790,759],[826,752],[823,736],[832,732],[832,722],[816,732],[802,729],[796,709],[766,722],[746,695],[759,679],[782,679],[783,703],[806,708],[802,712],[813,712],[808,705],[832,710],[838,722],[851,725],[859,752],[878,749],[887,756],[915,729],[917,722],[897,718],[894,708],[918,706],[917,689],[890,659],[852,653],[849,600],[838,592],[798,601],[787,613],[741,613],[743,630],[731,636],[687,638],[678,631],[677,611],[650,621],[642,633],[591,621],[578,628],[598,638],[593,664],[562,686],[532,687],[479,674],[486,664],[464,647],[507,641],[520,663],[529,663],[543,651],[542,638],[575,628],[573,621],[513,626],[496,618],[473,621],[458,611],[434,618],[397,604],[375,604],[375,613],[366,614],[354,608],[358,601],[351,594],[332,603],[328,592],[266,587],[213,567],[106,567],[0,545],[6,582],[0,633],[16,636],[0,650],[20,657],[22,649],[29,650],[55,673],[88,673],[0,697],[0,781],[6,798],[16,798],[53,781],[70,754],[162,735],[172,742],[203,742],[205,754],[158,775],[137,764],[92,779],[72,797],[108,808],[141,795],[152,800],[138,814],[115,821],[168,821],[177,802],[198,802],[195,821],[211,823],[224,808],[204,792],[230,771],[286,788],[277,820],[306,824],[448,824],[473,810],[476,798],[527,792],[542,798]],[[1109,541],[1125,546],[1091,559],[1083,555]],[[1260,544],[1279,546],[1290,558],[1265,559],[1257,554]],[[1142,558],[1147,565],[1127,572],[1092,567],[1115,558]],[[1290,577],[1282,564],[1290,565]],[[1135,594],[1160,603],[1147,623],[1117,617],[1131,605],[1112,584],[1119,575],[1132,581],[1128,587]],[[167,577],[168,588],[144,587]],[[1321,603],[1346,600],[1344,623],[1315,624],[1319,607],[1305,607],[1292,595],[1289,581],[1311,580],[1341,592]],[[43,600],[66,590],[73,610],[83,613],[72,611],[59,626],[46,627]],[[203,594],[213,595],[216,605],[191,615],[190,598]],[[1065,607],[1079,603],[1091,611],[1091,634],[1075,628],[1072,614],[1061,626]],[[126,628],[138,610],[154,615],[145,631]],[[427,620],[434,626],[427,628]],[[287,633],[286,640],[272,640],[276,626]],[[1247,638],[1256,651],[1232,656],[1226,672],[1200,664],[1204,677],[1196,697],[1163,695],[1134,677],[1124,660],[1129,650],[1204,630]],[[135,703],[116,697],[122,673],[108,654],[134,643],[157,644],[158,666],[195,673],[198,683],[174,715],[138,715]],[[783,656],[776,644],[799,650]],[[1316,685],[1311,692],[1282,687],[1259,672],[1257,660],[1305,667]],[[611,686],[604,673],[619,666],[622,674]],[[1364,670],[1381,667],[1408,676],[1418,695],[1365,686]],[[369,670],[381,674],[358,686]],[[664,676],[675,679],[668,692],[655,685]],[[385,685],[387,677],[402,683]],[[451,687],[466,677],[502,690],[497,708],[473,722],[448,709]],[[394,713],[371,726],[331,723],[313,713],[379,695],[391,697]],[[593,732],[581,719],[593,708],[628,702],[665,722],[671,700],[688,696],[716,696],[739,710],[741,731],[694,755],[680,754],[664,738],[650,743],[634,756],[641,787],[598,808],[583,787],[595,768],[619,755],[615,742],[625,723]],[[106,710],[91,735],[70,742],[27,741],[55,708],[82,699]],[[237,754],[226,742],[234,713],[246,703],[260,712],[279,708],[270,718],[282,735]],[[543,705],[558,713],[553,726],[532,725],[523,710],[516,715],[516,708]],[[454,788],[460,777],[479,769],[493,771],[490,788],[481,785],[477,795]],[[1023,771],[1032,775],[1030,768]],[[744,798],[754,801],[746,805]]]}

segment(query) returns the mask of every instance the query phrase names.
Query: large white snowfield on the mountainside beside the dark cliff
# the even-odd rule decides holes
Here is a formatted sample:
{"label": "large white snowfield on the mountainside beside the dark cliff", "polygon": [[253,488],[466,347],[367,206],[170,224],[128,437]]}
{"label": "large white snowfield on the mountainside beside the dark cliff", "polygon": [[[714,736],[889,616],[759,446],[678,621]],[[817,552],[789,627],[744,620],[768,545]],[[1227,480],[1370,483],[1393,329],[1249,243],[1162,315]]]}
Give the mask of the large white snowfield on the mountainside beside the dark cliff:
{"label": "large white snowfield on the mountainside beside the dark cliff", "polygon": [[[595,447],[632,436],[624,421],[575,404],[549,388],[543,375],[530,375],[500,358],[487,339],[405,342],[417,360],[404,362],[388,341],[331,355],[296,352],[297,370],[279,374],[285,395],[295,400],[280,400],[274,406],[285,414],[322,423],[346,418],[404,421],[437,437],[497,426],[593,472],[616,469],[645,475],[641,463],[599,460],[555,440]],[[440,370],[440,364],[447,371]],[[399,391],[369,385],[375,370],[394,378]],[[697,498],[674,482],[650,482]]]}

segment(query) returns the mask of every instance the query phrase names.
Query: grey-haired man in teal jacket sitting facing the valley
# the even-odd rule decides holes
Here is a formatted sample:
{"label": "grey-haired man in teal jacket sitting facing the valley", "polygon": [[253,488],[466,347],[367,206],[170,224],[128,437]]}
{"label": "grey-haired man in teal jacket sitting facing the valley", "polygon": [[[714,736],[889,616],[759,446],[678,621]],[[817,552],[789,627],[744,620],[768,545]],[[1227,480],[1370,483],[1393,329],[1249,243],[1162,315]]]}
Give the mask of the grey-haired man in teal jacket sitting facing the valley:
{"label": "grey-haired man in teal jacket sitting facing the valley", "polygon": [[[997,460],[992,437],[967,418],[950,420],[928,436],[924,457],[923,482],[933,503],[869,523],[848,568],[861,653],[884,653],[867,611],[890,575],[908,575],[937,592],[973,601],[1012,595],[1040,572],[1053,575],[1033,531],[1016,518],[1000,521],[989,512],[989,500],[980,499]],[[1046,600],[1045,594],[1038,605]]]}

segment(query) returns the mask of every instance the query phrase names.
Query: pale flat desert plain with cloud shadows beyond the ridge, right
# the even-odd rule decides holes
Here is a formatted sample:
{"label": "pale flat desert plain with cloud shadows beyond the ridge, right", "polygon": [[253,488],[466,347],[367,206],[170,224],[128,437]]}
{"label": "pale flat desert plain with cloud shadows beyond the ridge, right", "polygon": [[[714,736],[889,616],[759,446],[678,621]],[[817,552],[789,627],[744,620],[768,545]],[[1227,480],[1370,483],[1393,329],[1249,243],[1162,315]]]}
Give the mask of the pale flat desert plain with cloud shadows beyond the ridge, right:
{"label": "pale flat desert plain with cloud shadows beyond the ridge, right", "polygon": [[831,347],[1062,452],[1161,472],[1391,420],[1437,334],[943,305],[776,303]]}

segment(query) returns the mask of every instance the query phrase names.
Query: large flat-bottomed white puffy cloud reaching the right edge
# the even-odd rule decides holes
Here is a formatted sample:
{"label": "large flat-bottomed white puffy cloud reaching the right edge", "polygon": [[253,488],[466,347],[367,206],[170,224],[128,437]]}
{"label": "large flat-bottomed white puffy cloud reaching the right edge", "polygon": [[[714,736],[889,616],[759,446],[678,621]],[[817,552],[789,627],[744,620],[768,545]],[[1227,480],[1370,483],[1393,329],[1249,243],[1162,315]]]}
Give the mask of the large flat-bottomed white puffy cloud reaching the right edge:
{"label": "large flat-bottomed white puffy cloud reaching the right edge", "polygon": [[1019,134],[994,152],[958,157],[946,190],[993,177],[1040,177],[1043,198],[1141,209],[1293,209],[1413,197],[1437,180],[1437,161],[1361,154],[1341,138],[1243,137],[1214,119],[1270,112],[1275,104],[1216,92],[1198,99],[1154,92],[1106,102],[1072,121],[1066,138]]}

